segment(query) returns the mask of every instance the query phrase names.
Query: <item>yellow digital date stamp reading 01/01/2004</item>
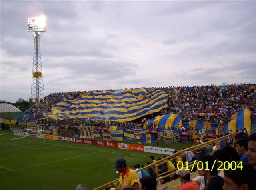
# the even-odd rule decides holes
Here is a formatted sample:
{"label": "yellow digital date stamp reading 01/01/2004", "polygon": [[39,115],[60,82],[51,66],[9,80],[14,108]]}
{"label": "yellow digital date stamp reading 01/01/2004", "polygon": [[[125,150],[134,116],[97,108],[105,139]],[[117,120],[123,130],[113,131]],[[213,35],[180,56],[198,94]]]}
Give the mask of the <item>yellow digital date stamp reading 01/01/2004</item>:
{"label": "yellow digital date stamp reading 01/01/2004", "polygon": [[[188,165],[190,165],[190,164],[191,163],[188,163],[188,161],[184,162],[184,163],[182,161],[179,161],[177,163],[177,169],[178,170],[183,170],[183,168],[184,168],[185,170],[190,170],[189,167],[188,167]],[[240,161],[240,162],[235,162],[235,161],[232,161],[232,162],[228,162],[228,161],[222,162],[222,161],[214,160],[214,163],[211,166],[211,168],[208,168],[208,162],[201,162],[201,161],[199,161],[199,162],[196,163],[196,161],[194,161],[191,170],[193,170],[194,167],[196,167],[197,170],[211,170],[212,171],[214,169],[214,165],[215,164],[218,164],[217,165],[218,166],[218,170],[236,170],[236,168],[240,168],[242,170],[242,168],[243,168],[242,161]]]}

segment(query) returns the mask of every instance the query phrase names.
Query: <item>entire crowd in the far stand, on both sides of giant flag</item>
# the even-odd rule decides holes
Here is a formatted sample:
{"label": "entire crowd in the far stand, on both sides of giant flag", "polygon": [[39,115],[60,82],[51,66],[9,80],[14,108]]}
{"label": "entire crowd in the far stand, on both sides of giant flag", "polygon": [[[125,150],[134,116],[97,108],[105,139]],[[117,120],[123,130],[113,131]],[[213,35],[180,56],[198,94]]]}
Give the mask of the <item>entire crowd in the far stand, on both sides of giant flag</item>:
{"label": "entire crowd in the far stand, on both sides of giant flag", "polygon": [[[232,115],[243,108],[247,108],[252,112],[252,120],[256,118],[256,84],[232,84],[228,86],[207,85],[192,87],[152,87],[148,89],[164,90],[168,94],[168,108],[158,113],[150,114],[133,121],[133,124],[141,124],[142,120],[153,118],[154,116],[174,113],[182,117],[182,122],[198,120],[211,123],[225,123]],[[120,89],[118,89],[120,90]],[[125,89],[122,89],[125,90]],[[116,91],[116,90],[109,90]],[[65,97],[79,97],[96,91],[80,91],[80,92],[56,92],[45,96],[40,100],[40,104],[34,105],[27,110],[27,114],[19,120],[19,122],[38,122],[40,118],[51,111],[52,106],[60,102]],[[197,113],[216,113],[217,116],[198,116]],[[51,118],[47,118],[44,122],[54,122]],[[74,120],[62,120],[65,124],[80,124]],[[68,123],[66,123],[68,122]],[[88,121],[88,125],[109,126],[114,124],[118,126],[117,121],[108,123],[106,121]],[[124,124],[125,125],[125,124]]]}

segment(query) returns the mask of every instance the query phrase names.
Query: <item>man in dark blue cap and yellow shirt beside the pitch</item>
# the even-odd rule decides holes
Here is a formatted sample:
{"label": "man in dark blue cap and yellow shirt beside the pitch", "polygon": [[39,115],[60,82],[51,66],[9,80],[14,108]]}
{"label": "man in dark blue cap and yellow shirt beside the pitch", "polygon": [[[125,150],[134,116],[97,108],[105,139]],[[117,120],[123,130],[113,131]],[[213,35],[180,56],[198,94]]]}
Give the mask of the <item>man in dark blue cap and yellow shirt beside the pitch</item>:
{"label": "man in dark blue cap and yellow shirt beside the pitch", "polygon": [[139,179],[136,172],[130,169],[124,158],[116,159],[115,164],[112,166],[116,168],[118,172],[120,172],[119,183],[121,184],[121,188],[118,190],[122,190],[124,188],[134,188],[135,190],[139,190]]}

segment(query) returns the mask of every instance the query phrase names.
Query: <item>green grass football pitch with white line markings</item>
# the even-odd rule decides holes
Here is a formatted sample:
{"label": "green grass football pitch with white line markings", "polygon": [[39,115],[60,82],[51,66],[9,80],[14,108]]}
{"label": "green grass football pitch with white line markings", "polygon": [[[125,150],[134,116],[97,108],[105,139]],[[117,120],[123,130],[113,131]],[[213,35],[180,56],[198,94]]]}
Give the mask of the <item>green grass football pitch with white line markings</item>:
{"label": "green grass football pitch with white line markings", "polygon": [[134,164],[145,165],[150,155],[156,160],[166,156],[19,137],[0,131],[1,190],[75,190],[78,184],[92,190],[115,179],[116,169],[111,166],[116,158],[125,158],[132,168]]}

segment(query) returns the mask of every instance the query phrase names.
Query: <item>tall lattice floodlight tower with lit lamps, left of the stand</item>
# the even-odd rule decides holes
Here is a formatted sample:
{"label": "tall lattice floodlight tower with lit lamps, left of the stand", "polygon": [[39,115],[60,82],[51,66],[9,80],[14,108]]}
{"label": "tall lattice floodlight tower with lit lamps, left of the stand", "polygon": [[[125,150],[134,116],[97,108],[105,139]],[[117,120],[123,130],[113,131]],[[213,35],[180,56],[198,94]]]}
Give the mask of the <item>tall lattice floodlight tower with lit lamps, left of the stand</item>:
{"label": "tall lattice floodlight tower with lit lamps, left of the stand", "polygon": [[45,32],[45,16],[28,18],[28,32],[34,38],[34,58],[32,70],[31,98],[38,103],[44,97],[44,82],[39,39]]}

